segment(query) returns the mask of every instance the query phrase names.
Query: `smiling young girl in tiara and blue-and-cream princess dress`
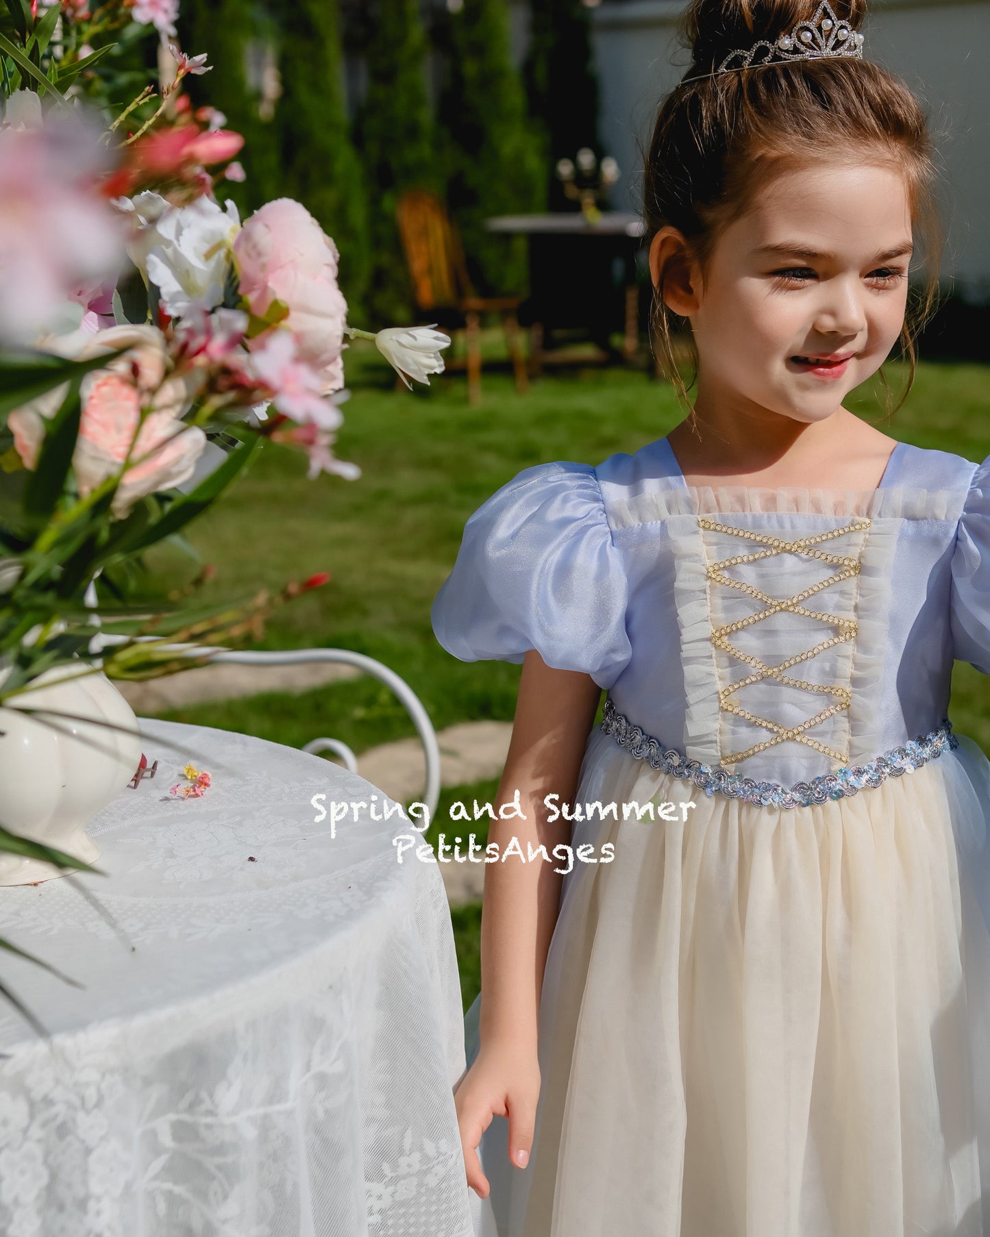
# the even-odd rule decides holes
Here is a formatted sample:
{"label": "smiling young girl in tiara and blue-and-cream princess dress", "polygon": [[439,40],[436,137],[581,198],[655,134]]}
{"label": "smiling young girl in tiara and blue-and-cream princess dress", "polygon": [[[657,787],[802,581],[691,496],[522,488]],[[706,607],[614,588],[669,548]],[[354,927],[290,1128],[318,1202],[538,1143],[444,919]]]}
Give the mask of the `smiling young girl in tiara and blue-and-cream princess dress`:
{"label": "smiling young girl in tiara and blue-and-cream princess dress", "polygon": [[947,717],[953,659],[990,673],[990,459],[843,406],[933,179],[863,17],[688,5],[645,218],[693,413],[523,469],[433,606],[522,663],[490,841],[535,857],[485,870],[455,1094],[485,1233],[990,1233],[990,762]]}

